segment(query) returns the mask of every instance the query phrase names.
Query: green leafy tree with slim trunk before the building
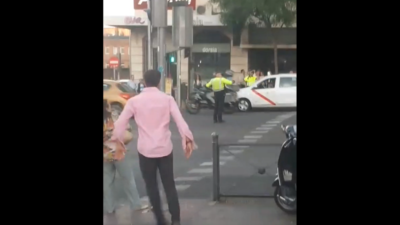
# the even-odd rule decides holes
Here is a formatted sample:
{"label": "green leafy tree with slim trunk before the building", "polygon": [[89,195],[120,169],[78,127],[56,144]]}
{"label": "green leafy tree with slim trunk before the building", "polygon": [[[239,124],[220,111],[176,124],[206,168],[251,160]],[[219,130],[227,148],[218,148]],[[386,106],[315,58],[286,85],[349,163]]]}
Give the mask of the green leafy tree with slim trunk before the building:
{"label": "green leafy tree with slim trunk before the building", "polygon": [[275,74],[278,74],[278,48],[272,28],[290,27],[296,21],[297,0],[210,0],[221,10],[221,22],[240,33],[249,24],[265,27],[272,36]]}

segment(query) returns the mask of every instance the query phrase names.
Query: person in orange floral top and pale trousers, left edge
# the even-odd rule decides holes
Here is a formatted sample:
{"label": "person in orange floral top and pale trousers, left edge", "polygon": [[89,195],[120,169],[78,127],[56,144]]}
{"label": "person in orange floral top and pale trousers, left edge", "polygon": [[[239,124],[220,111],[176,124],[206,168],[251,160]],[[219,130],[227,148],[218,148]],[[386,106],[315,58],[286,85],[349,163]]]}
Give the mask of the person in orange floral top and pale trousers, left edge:
{"label": "person in orange floral top and pale trousers, left edge", "polygon": [[[110,140],[113,131],[114,121],[111,112],[108,111],[107,101],[103,100],[103,195],[106,211],[108,213],[115,212],[116,205],[111,188],[114,184],[116,171],[124,182],[130,209],[146,209],[148,206],[142,206],[140,203],[132,168],[125,160],[126,149],[124,145],[119,141]],[[116,146],[119,147],[116,148]]]}

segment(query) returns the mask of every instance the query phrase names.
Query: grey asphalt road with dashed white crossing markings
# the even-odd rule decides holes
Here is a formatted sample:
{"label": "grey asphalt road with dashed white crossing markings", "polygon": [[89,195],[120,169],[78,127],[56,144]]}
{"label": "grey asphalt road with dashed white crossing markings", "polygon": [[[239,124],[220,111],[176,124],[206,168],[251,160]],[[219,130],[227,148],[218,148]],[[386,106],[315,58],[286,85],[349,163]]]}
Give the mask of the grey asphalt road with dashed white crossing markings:
{"label": "grey asphalt road with dashed white crossing markings", "polygon": [[[224,124],[212,122],[212,110],[202,110],[198,115],[183,112],[198,149],[190,159],[183,154],[181,137],[174,122],[171,123],[172,143],[174,145],[174,177],[181,199],[209,199],[212,188],[212,145],[211,133],[219,135],[220,143],[283,143],[284,135],[280,124],[296,124],[296,111],[268,110],[224,115]],[[132,121],[134,137],[137,127]],[[140,174],[136,139],[128,145],[127,159],[132,165],[140,197],[146,196],[144,181]],[[224,149],[228,150],[224,151]],[[276,171],[277,147],[221,147],[221,191],[227,194],[269,194],[265,190],[273,181]],[[250,165],[252,164],[252,165]],[[259,175],[258,168],[266,168],[266,174]],[[272,179],[272,180],[271,180]],[[251,187],[251,188],[250,188]],[[243,193],[244,192],[244,193]],[[246,193],[250,192],[250,193]],[[114,193],[119,204],[125,204],[125,193],[118,174]]]}

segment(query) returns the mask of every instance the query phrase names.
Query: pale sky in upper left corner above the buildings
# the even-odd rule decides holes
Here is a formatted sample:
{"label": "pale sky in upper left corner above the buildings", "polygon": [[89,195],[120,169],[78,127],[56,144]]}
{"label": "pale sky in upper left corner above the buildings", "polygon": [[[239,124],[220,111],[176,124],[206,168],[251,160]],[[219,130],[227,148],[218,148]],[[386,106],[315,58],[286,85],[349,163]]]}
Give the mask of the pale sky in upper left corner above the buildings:
{"label": "pale sky in upper left corner above the buildings", "polygon": [[[134,16],[133,0],[103,0],[103,16]],[[112,27],[103,24],[103,28]]]}

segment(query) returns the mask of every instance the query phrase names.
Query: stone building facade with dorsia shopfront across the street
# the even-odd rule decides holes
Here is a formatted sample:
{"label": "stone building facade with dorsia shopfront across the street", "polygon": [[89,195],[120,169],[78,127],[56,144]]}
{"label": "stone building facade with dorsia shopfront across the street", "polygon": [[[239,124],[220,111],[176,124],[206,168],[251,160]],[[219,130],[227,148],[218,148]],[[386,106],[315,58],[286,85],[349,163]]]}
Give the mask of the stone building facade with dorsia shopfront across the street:
{"label": "stone building facade with dorsia shopfront across the street", "polygon": [[[146,0],[134,0],[135,16],[109,16],[104,17],[104,24],[126,28],[130,30],[130,73],[135,79],[142,78],[147,68],[147,24],[148,18],[144,9],[147,8]],[[216,70],[262,69],[273,71],[273,45],[271,35],[265,28],[247,28],[242,31],[239,45],[233,44],[232,31],[228,30],[221,22],[218,7],[208,0],[190,0],[193,8],[193,47],[192,56],[194,70],[204,78],[210,78]],[[166,52],[176,49],[172,44],[172,10],[168,9],[168,32],[166,35]],[[274,28],[278,44],[278,65],[281,72],[289,72],[296,66],[296,24],[292,28]],[[157,52],[157,34],[153,30],[153,52]],[[270,58],[272,52],[272,59]],[[189,80],[188,58],[181,54],[181,80]],[[156,59],[156,56],[153,56]],[[156,62],[156,60],[155,60]],[[154,65],[153,68],[157,68]],[[168,66],[167,66],[168,67]],[[282,70],[281,70],[282,69]]]}

